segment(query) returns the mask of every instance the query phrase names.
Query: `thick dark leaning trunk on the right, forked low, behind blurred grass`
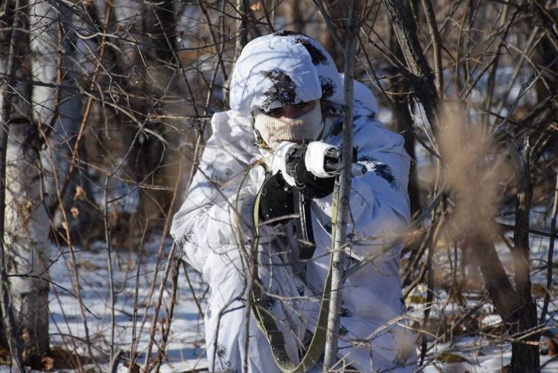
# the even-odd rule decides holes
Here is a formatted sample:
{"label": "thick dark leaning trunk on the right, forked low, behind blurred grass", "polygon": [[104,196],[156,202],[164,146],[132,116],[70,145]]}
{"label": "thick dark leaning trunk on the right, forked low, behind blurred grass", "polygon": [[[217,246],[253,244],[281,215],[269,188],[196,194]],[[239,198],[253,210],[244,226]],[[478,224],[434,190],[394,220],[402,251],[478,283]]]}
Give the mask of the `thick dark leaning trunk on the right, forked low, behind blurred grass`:
{"label": "thick dark leaning trunk on the right, forked low, behind blurred grass", "polygon": [[[415,94],[425,109],[426,116],[432,129],[439,127],[439,96],[436,92],[434,79],[430,68],[426,64],[421,45],[416,37],[416,24],[408,15],[406,8],[400,0],[384,0],[391,24],[397,35],[401,50],[407,61],[411,74],[409,78]],[[550,31],[549,31],[550,32]],[[444,154],[442,154],[444,156]],[[514,154],[512,152],[512,158]],[[519,156],[515,156],[519,159]],[[511,286],[506,272],[499,261],[491,233],[485,227],[479,226],[480,232],[474,244],[474,253],[478,265],[488,288],[488,293],[502,320],[513,337],[512,342],[512,371],[536,372],[539,369],[538,359],[538,333],[536,328],[536,307],[531,299],[531,284],[529,279],[529,207],[531,200],[531,186],[529,184],[529,171],[525,165],[529,161],[515,161],[518,172],[519,191],[518,209],[515,222],[515,290]],[[492,219],[492,217],[485,217]],[[479,219],[478,221],[489,221]]]}

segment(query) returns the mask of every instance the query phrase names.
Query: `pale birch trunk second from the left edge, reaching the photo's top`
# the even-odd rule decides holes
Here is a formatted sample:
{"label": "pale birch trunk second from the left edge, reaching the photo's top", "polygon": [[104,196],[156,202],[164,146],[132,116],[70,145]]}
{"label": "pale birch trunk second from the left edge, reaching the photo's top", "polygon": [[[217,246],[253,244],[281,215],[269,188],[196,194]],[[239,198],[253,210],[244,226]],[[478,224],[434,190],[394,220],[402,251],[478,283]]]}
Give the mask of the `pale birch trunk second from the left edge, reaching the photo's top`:
{"label": "pale birch trunk second from the left edge, reaching the photo's top", "polygon": [[[71,12],[61,2],[56,8],[51,3],[36,1],[30,6],[29,31],[31,34],[31,74],[46,85],[34,85],[31,92],[33,119],[48,138],[49,148],[41,152],[41,166],[45,178],[45,201],[54,214],[54,225],[68,224],[70,237],[74,242],[86,242],[98,223],[98,214],[91,206],[91,200],[76,199],[80,187],[87,197],[91,196],[91,186],[86,182],[79,162],[86,160],[84,146],[77,144],[80,132],[82,107],[76,95],[75,73],[69,66],[76,66],[70,58],[70,39],[66,31],[72,29]],[[80,68],[80,67],[77,67]],[[73,163],[77,167],[73,167]],[[62,206],[57,198],[56,178],[61,189]],[[61,210],[65,214],[61,214]],[[64,217],[68,221],[64,221]],[[59,230],[64,231],[63,228]],[[63,233],[62,237],[66,237]]]}

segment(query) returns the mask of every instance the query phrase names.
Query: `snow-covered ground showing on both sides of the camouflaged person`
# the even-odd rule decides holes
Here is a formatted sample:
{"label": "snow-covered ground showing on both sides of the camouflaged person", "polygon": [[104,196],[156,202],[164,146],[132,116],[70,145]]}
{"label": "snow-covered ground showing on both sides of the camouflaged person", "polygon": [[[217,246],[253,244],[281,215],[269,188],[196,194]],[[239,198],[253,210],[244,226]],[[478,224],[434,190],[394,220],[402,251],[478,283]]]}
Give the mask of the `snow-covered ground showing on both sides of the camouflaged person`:
{"label": "snow-covered ground showing on both sides of the camouflaged person", "polygon": [[[167,265],[167,256],[171,242],[165,240],[163,254],[158,262],[158,247],[160,239],[155,239],[144,245],[141,254],[128,251],[111,251],[112,283],[114,284],[114,303],[111,302],[109,252],[105,244],[98,242],[91,249],[76,250],[76,266],[81,291],[76,291],[75,270],[67,249],[52,249],[55,261],[50,268],[52,277],[52,291],[50,293],[50,339],[52,346],[62,346],[68,351],[82,356],[93,356],[98,362],[88,364],[93,372],[107,372],[110,370],[110,347],[113,353],[123,351],[124,355],[118,365],[118,372],[128,372],[130,351],[135,349],[135,356],[139,356],[137,363],[143,365],[150,344],[150,330],[153,314],[160,295],[160,283]],[[540,238],[532,240],[534,256],[545,258],[548,246]],[[165,357],[160,372],[188,372],[193,369],[206,367],[204,358],[204,334],[202,317],[190,291],[188,279],[194,290],[195,297],[204,309],[204,292],[202,284],[193,270],[180,268],[176,293],[176,307],[172,317],[172,326],[165,349]],[[154,343],[151,346],[151,356],[156,356],[161,343],[161,331],[167,319],[167,309],[170,306],[172,281],[167,280],[167,287],[162,294],[158,324],[155,328]],[[534,272],[534,283],[543,282],[544,273]],[[153,291],[150,295],[150,289]],[[424,289],[422,289],[424,290]],[[418,288],[421,292],[421,288]],[[78,297],[82,299],[80,307]],[[414,297],[416,299],[416,297]],[[455,311],[451,302],[446,302],[444,292],[437,298],[441,311],[433,312],[434,316],[442,317]],[[556,312],[556,299],[550,307]],[[419,303],[410,305],[411,314],[417,321],[421,321],[423,310]],[[443,308],[442,308],[443,307]],[[114,317],[112,309],[114,308]],[[435,307],[436,308],[436,307]],[[490,302],[483,305],[485,316],[483,326],[497,327],[499,316],[492,312]],[[83,317],[83,314],[84,317]],[[539,309],[540,314],[540,309]],[[112,320],[114,319],[114,323]],[[91,344],[85,343],[87,336]],[[136,341],[133,344],[133,341]],[[114,342],[112,342],[114,341]],[[545,342],[545,337],[542,338]],[[448,341],[440,340],[433,343],[429,339],[425,372],[500,372],[502,367],[511,361],[511,345],[501,342],[498,338],[486,335],[463,335]],[[543,372],[558,372],[558,360],[548,355],[541,356]],[[546,365],[545,365],[546,364]],[[70,370],[58,369],[58,372]],[[73,372],[73,370],[71,370]],[[7,367],[1,367],[0,372],[9,372]]]}

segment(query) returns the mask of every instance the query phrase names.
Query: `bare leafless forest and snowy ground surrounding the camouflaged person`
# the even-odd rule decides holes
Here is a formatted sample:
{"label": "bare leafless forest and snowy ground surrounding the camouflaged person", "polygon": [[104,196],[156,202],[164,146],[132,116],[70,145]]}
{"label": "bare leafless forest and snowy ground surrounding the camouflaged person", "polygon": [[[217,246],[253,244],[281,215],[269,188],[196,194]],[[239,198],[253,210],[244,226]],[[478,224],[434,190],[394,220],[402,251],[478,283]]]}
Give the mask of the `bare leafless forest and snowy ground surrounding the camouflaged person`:
{"label": "bare leafless forest and snowy ground surrounding the camouflaged person", "polygon": [[[354,78],[405,136],[401,271],[421,363],[474,369],[508,349],[498,369],[535,372],[558,353],[558,2],[351,3],[0,1],[3,363],[158,370],[194,326],[183,343],[203,356],[206,287],[174,259],[169,222],[241,47],[282,29],[340,71],[356,41]],[[195,321],[177,324],[175,305]]]}

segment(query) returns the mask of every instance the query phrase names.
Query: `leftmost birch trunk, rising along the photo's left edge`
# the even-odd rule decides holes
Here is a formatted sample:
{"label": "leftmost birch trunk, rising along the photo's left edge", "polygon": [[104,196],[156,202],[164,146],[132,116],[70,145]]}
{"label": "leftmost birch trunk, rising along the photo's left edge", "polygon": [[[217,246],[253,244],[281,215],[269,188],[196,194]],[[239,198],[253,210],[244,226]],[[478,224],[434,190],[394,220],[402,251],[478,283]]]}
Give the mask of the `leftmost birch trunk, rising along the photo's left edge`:
{"label": "leftmost birch trunk, rising along the photo's left edge", "polygon": [[[26,4],[18,3],[20,11]],[[22,22],[17,29],[27,25]],[[6,131],[6,173],[3,240],[6,270],[13,310],[13,334],[22,346],[25,365],[40,367],[47,353],[48,338],[48,283],[46,265],[49,259],[49,219],[41,196],[41,173],[36,150],[36,128],[29,121],[29,53],[27,34],[19,33],[19,51],[10,50],[8,58],[17,62],[8,73],[16,80],[3,86],[3,130]],[[6,54],[3,54],[6,55]],[[2,69],[6,68],[1,64]],[[11,92],[14,89],[17,93]],[[22,370],[17,367],[16,370]]]}

